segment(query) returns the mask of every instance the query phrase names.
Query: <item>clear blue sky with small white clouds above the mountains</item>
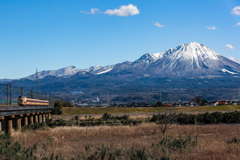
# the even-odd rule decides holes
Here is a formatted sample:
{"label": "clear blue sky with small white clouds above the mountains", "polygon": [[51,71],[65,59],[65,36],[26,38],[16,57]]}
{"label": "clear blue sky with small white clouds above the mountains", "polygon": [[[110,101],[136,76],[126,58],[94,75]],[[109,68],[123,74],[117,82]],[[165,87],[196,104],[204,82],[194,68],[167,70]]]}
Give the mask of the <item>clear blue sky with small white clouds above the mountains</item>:
{"label": "clear blue sky with small white clouds above the mountains", "polygon": [[240,1],[0,1],[0,79],[134,61],[190,42],[240,62]]}

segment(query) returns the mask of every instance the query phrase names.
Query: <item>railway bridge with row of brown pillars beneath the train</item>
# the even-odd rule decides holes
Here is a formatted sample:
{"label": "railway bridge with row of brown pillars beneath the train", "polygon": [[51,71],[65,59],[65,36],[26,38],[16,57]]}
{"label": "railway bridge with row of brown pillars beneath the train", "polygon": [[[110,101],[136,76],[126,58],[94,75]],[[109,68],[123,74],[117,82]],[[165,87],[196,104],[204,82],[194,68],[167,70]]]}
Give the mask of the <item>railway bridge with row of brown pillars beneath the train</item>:
{"label": "railway bridge with row of brown pillars beneath the train", "polygon": [[12,134],[22,126],[33,123],[46,123],[51,119],[53,106],[0,106],[0,132]]}

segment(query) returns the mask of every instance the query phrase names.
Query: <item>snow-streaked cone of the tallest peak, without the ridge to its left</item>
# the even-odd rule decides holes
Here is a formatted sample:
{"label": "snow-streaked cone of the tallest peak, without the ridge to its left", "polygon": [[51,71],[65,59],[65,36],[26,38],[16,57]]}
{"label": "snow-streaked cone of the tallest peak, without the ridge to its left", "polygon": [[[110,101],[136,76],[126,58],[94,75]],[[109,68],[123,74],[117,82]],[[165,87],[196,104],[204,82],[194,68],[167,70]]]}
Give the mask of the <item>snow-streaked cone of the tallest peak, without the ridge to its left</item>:
{"label": "snow-streaked cone of the tallest peak, without the ridge to its left", "polygon": [[150,64],[145,72],[180,77],[217,75],[224,68],[233,72],[240,72],[238,63],[196,42],[179,45],[161,53],[161,56],[161,58]]}

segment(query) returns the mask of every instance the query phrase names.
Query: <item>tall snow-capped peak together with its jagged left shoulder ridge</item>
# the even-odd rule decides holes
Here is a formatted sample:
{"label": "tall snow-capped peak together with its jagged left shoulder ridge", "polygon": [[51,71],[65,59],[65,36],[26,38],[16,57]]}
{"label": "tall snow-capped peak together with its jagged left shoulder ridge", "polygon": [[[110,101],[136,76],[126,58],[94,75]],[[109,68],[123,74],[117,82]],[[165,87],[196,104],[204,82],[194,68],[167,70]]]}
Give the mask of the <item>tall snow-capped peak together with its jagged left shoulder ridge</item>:
{"label": "tall snow-capped peak together with its jagged left shoulder ridge", "polygon": [[164,52],[146,53],[134,62],[116,65],[109,73],[126,70],[138,77],[224,76],[240,74],[240,64],[221,56],[203,44],[191,42]]}

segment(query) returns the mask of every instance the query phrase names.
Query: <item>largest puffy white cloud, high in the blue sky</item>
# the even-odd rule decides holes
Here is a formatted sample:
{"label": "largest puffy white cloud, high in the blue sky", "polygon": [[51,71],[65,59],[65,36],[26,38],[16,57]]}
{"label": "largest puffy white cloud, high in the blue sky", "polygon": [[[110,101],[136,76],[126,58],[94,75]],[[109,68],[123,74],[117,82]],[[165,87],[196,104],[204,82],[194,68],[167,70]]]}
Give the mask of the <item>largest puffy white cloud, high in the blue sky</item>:
{"label": "largest puffy white cloud, high in the blue sky", "polygon": [[131,3],[129,5],[122,5],[119,7],[119,9],[108,9],[104,12],[104,14],[108,14],[110,16],[133,16],[139,14],[140,11],[137,8],[137,6],[132,5]]}

